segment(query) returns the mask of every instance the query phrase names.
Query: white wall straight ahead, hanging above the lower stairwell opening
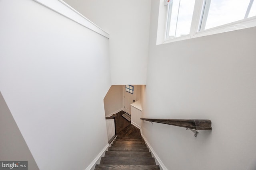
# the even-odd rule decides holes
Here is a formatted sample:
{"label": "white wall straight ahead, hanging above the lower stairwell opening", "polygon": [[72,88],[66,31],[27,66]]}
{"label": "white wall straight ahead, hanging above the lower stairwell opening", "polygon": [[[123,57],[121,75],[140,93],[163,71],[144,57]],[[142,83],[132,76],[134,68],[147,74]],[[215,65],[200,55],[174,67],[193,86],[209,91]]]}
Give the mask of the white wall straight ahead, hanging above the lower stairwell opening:
{"label": "white wall straight ahead, hanging above the lower stairwell opening", "polygon": [[110,34],[112,84],[146,84],[150,1],[64,1]]}

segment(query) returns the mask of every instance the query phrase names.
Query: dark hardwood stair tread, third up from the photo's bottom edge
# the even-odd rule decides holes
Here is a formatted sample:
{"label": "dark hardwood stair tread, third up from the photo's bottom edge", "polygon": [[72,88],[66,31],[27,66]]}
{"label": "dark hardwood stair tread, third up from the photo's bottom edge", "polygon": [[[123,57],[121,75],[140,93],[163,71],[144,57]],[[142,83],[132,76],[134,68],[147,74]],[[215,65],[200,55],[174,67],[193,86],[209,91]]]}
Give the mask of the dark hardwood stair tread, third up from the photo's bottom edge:
{"label": "dark hardwood stair tread, third up from the photo's bottom edge", "polygon": [[105,152],[105,157],[112,156],[112,157],[139,157],[139,156],[144,156],[144,157],[152,157],[151,152],[126,152],[126,151],[106,151]]}

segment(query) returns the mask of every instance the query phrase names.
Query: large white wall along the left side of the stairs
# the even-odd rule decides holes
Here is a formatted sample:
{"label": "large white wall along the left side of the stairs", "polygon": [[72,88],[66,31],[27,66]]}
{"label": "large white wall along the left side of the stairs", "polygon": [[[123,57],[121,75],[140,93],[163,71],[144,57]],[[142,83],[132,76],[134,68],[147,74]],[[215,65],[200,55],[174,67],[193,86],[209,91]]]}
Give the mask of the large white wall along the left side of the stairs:
{"label": "large white wall along the left side of the stairs", "polygon": [[0,21],[0,91],[39,169],[86,169],[108,145],[108,39],[32,0]]}

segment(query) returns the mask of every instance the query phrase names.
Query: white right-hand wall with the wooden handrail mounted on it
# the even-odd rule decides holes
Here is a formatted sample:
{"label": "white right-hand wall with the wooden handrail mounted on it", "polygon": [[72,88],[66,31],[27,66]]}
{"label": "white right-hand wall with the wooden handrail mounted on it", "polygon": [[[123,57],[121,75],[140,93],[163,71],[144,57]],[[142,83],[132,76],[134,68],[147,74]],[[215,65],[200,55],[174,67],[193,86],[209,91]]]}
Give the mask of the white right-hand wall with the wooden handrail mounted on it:
{"label": "white right-hand wall with the wooden handrail mounted on it", "polygon": [[212,131],[143,122],[167,169],[256,169],[256,27],[156,46],[152,1],[142,117],[210,119]]}

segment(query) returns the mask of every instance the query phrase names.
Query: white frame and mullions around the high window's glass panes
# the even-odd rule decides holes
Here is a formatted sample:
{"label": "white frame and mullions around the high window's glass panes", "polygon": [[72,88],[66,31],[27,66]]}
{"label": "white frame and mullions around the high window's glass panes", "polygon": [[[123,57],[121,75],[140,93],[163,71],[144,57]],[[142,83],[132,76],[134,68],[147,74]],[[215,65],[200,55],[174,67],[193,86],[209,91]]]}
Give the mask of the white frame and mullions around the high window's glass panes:
{"label": "white frame and mullions around the high window's glass panes", "polygon": [[[250,2],[251,3],[251,2]],[[256,3],[256,2],[254,2]],[[251,4],[250,4],[251,5]],[[249,5],[249,6],[250,6]],[[217,34],[217,33],[224,33],[227,31],[234,31],[237,29],[241,29],[238,27],[238,25],[245,25],[246,28],[249,27],[255,27],[256,26],[256,16],[250,17],[250,18],[246,18],[243,20],[239,20],[239,21],[234,21],[231,23],[227,23],[224,25],[220,25],[217,27],[213,27],[210,29],[206,29],[203,31],[199,31],[199,27],[201,26],[201,22],[203,22],[203,24],[205,24],[207,17],[203,18],[203,10],[205,10],[206,12],[208,12],[207,10],[209,10],[210,7],[210,0],[196,0],[195,1],[195,6],[194,6],[194,13],[192,16],[192,22],[191,22],[191,27],[190,27],[190,34],[189,35],[184,35],[184,36],[180,36],[180,37],[176,37],[173,39],[168,39],[168,34],[169,34],[169,6],[170,3],[168,3],[168,5],[166,6],[167,8],[167,14],[166,14],[166,31],[165,31],[165,39],[164,39],[164,43],[170,43],[170,42],[175,42],[175,41],[181,41],[181,40],[185,40],[185,39],[190,39],[190,38],[196,38],[196,37],[202,37],[202,36],[206,36],[206,35],[213,35],[213,34]],[[204,9],[205,8],[205,9]],[[246,12],[246,14],[248,16],[248,11]]]}

